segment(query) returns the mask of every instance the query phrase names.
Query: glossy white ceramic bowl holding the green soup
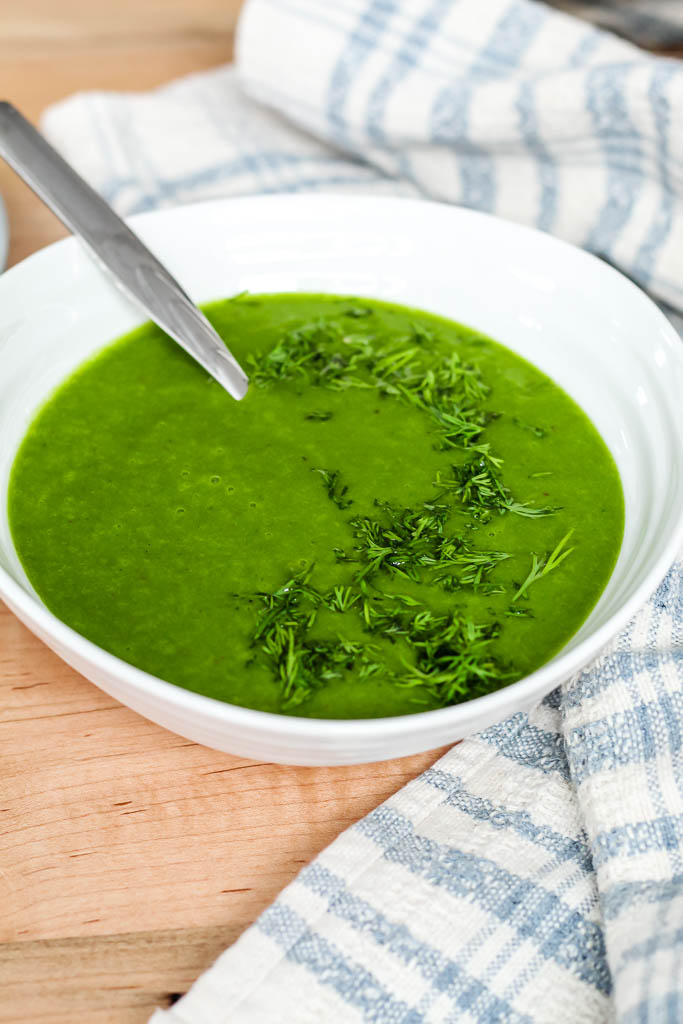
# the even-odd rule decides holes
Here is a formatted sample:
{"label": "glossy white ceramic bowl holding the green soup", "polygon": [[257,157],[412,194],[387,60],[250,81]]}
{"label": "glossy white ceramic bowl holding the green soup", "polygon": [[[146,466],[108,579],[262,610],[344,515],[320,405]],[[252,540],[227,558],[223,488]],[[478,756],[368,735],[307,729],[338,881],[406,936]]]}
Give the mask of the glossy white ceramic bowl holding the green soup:
{"label": "glossy white ceramic bowl holding the green soup", "polygon": [[75,633],[34,593],[12,547],[9,469],[34,413],[83,359],[143,317],[74,239],[0,279],[0,597],[88,679],[190,739],[244,757],[335,765],[460,739],[530,708],[627,623],[683,542],[683,346],[656,306],[605,263],[547,234],[402,199],[275,196],[203,203],[131,220],[197,301],[252,292],[372,296],[471,325],[530,359],[584,408],[608,444],[626,532],[597,606],[530,676],[454,708],[322,721],[190,693]]}

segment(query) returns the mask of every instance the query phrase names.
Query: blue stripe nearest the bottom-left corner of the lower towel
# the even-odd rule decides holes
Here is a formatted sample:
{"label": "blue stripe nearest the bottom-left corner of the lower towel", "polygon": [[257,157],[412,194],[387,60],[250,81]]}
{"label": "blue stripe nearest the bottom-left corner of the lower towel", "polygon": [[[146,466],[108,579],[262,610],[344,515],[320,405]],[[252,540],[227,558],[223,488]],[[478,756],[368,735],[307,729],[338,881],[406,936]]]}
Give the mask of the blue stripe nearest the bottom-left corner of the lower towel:
{"label": "blue stripe nearest the bottom-left corner of the lower towel", "polygon": [[319,985],[334,989],[364,1020],[372,1024],[423,1024],[418,1010],[394,998],[371,971],[344,956],[290,907],[273,903],[256,925],[284,948],[291,963],[306,968]]}

